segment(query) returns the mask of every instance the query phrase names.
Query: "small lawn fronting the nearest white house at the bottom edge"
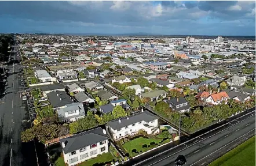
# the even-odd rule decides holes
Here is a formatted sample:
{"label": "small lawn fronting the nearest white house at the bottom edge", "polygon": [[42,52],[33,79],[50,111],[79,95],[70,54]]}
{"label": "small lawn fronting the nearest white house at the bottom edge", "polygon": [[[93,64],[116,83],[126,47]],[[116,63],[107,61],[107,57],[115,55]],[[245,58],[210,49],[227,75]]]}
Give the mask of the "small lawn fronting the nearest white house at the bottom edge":
{"label": "small lawn fronting the nearest white house at the bottom edge", "polygon": [[[112,156],[111,153],[103,153],[99,154],[97,157],[93,159],[89,159],[81,164],[78,164],[79,166],[92,166],[93,164],[96,163],[111,163],[111,161],[114,159],[114,156]],[[104,165],[104,164],[101,164]]]}

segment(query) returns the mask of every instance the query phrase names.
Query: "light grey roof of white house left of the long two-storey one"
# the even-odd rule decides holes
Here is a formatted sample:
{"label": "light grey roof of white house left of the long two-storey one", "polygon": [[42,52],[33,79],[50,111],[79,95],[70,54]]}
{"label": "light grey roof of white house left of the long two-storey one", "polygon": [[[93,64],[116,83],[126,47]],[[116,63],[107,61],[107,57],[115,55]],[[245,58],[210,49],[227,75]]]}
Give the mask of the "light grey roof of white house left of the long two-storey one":
{"label": "light grey roof of white house left of the long two-storey one", "polygon": [[[61,120],[66,120],[66,119],[71,119],[71,118],[78,118],[80,116],[85,116],[85,109],[83,108],[83,104],[81,104],[81,103],[71,103],[71,104],[67,104],[66,106],[67,107],[60,108],[58,110],[58,117]],[[65,112],[74,111],[74,110],[79,110],[79,114],[65,117]]]}

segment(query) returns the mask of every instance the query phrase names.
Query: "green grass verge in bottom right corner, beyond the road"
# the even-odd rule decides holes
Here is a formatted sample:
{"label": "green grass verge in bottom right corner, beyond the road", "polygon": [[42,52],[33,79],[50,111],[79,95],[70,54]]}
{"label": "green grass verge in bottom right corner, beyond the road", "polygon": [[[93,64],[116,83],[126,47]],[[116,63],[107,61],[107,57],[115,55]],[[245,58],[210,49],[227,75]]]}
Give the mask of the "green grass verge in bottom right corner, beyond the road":
{"label": "green grass verge in bottom right corner, beyond the road", "polygon": [[209,166],[255,165],[255,136],[213,161]]}

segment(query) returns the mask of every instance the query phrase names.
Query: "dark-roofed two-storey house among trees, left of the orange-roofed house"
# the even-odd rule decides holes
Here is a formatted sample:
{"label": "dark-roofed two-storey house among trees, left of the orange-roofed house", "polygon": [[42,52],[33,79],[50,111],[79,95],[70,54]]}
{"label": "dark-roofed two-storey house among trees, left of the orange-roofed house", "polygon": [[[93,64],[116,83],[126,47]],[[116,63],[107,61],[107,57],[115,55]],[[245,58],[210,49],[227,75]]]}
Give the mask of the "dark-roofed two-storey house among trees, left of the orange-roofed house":
{"label": "dark-roofed two-storey house among trees, left of the orange-roofed house", "polygon": [[168,103],[170,108],[178,111],[180,113],[189,112],[190,105],[184,97],[170,98],[168,100],[164,99],[164,102]]}

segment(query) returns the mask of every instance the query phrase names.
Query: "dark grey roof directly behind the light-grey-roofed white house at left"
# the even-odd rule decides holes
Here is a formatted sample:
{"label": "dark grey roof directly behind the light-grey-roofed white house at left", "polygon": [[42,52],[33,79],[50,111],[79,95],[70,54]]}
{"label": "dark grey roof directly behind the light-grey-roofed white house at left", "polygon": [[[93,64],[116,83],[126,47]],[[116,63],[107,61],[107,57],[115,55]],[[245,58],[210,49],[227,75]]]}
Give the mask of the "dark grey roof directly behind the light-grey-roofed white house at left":
{"label": "dark grey roof directly behind the light-grey-roofed white house at left", "polygon": [[50,104],[53,105],[53,108],[62,107],[64,105],[74,103],[66,92],[60,90],[47,93],[47,97],[50,101]]}

